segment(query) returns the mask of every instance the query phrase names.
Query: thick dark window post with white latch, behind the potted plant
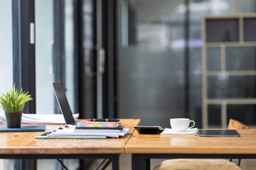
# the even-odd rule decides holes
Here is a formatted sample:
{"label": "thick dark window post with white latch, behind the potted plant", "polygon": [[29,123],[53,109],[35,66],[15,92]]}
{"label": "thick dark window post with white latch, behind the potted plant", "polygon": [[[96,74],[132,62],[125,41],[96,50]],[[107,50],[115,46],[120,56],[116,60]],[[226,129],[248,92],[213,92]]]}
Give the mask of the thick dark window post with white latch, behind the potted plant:
{"label": "thick dark window post with white latch, behind the potted plant", "polygon": [[[31,23],[34,26],[35,1],[12,0],[14,84],[33,98],[26,103],[24,113],[36,113],[35,28],[31,29]],[[14,169],[36,169],[36,160],[15,159]]]}

